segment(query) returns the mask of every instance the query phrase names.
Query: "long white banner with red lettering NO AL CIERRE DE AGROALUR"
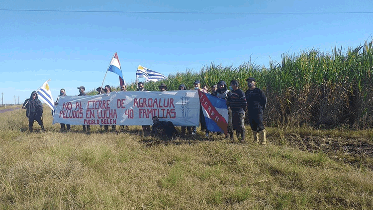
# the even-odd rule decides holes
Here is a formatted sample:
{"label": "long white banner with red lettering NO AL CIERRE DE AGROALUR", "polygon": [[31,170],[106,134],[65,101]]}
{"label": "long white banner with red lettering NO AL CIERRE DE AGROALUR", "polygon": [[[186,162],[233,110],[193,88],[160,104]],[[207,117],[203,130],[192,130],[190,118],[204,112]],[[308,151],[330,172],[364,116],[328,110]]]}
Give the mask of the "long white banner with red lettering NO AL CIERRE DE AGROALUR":
{"label": "long white banner with red lettering NO AL CIERRE DE AGROALUR", "polygon": [[178,126],[193,126],[199,122],[196,90],[59,96],[54,110],[53,124],[152,125],[153,116]]}

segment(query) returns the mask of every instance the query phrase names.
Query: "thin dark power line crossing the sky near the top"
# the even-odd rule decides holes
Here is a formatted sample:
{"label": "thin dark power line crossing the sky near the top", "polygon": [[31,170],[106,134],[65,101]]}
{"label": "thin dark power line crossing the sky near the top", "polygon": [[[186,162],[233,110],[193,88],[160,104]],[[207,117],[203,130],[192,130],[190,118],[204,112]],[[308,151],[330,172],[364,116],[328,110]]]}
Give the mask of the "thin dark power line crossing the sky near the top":
{"label": "thin dark power line crossing the sky near the top", "polygon": [[95,11],[95,10],[46,10],[46,9],[0,9],[0,11],[33,12],[88,12],[88,13],[146,13],[146,14],[373,14],[373,12],[183,12],[183,11]]}

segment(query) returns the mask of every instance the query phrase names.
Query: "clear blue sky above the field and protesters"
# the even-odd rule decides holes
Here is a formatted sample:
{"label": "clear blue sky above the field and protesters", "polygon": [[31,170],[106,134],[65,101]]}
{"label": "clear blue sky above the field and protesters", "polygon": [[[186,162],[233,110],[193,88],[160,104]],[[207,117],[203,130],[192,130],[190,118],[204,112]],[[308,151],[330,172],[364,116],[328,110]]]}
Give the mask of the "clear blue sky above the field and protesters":
{"label": "clear blue sky above the field and protesters", "polygon": [[[61,88],[78,95],[101,86],[115,52],[127,83],[138,65],[168,76],[199,72],[213,62],[268,66],[282,53],[308,49],[330,52],[372,40],[373,13],[286,14],[291,12],[372,12],[361,0],[136,0],[20,1],[0,4],[0,94],[23,103],[46,80],[56,100]],[[146,12],[263,12],[186,14],[10,11],[84,10]],[[268,14],[281,12],[284,14]],[[267,14],[265,14],[267,13]],[[104,85],[119,86],[108,72]]]}

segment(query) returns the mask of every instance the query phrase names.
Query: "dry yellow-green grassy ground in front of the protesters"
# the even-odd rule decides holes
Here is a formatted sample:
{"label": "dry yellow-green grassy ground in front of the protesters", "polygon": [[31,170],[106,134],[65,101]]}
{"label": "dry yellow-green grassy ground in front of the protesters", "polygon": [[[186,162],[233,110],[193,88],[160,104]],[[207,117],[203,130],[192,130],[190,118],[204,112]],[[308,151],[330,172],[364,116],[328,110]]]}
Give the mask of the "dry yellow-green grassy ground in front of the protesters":
{"label": "dry yellow-green grassy ground in front of the protesters", "polygon": [[270,144],[259,146],[202,133],[157,139],[140,126],[60,133],[47,115],[48,131],[29,134],[25,110],[0,114],[0,209],[373,208],[369,167],[286,141],[344,133],[372,143],[369,130],[268,128]]}

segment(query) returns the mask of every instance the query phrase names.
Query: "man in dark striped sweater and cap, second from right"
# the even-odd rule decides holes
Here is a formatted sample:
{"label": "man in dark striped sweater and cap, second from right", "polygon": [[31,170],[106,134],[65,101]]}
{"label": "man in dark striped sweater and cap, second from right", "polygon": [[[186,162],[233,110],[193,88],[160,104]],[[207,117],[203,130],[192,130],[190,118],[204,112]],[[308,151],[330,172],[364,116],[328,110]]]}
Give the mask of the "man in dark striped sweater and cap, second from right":
{"label": "man in dark striped sweater and cap, second from right", "polygon": [[241,141],[245,141],[246,129],[245,129],[245,111],[247,107],[245,93],[239,88],[237,80],[230,82],[231,94],[228,97],[228,103],[232,110],[232,125],[233,129],[236,130],[237,138]]}

